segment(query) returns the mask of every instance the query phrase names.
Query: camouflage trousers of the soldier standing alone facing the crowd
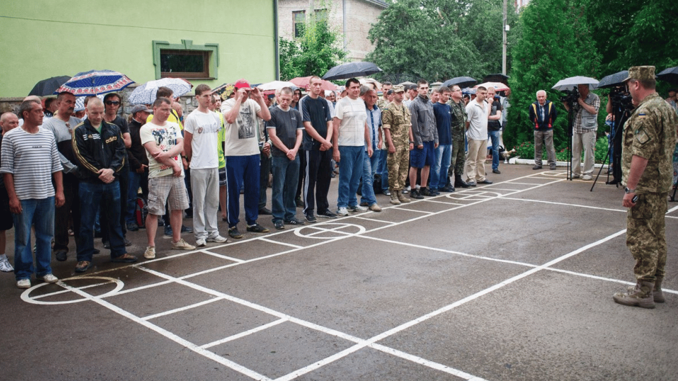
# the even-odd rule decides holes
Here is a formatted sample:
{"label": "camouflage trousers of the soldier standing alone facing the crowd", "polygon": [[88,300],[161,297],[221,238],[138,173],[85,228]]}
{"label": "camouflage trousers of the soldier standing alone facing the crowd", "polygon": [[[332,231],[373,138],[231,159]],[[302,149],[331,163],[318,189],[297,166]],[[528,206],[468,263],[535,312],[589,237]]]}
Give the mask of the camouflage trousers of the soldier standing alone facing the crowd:
{"label": "camouflage trousers of the soldier standing alone facing the crowd", "polygon": [[664,277],[666,231],[664,214],[669,193],[643,193],[626,214],[626,246],[636,260],[636,279],[654,282]]}

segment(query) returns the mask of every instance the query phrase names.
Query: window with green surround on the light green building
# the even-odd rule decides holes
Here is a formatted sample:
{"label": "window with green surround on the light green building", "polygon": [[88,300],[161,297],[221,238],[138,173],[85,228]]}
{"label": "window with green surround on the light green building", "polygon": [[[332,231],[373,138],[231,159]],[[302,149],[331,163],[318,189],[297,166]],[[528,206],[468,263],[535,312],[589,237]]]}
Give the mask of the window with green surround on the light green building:
{"label": "window with green surround on the light green building", "polygon": [[181,40],[177,44],[153,41],[153,64],[155,79],[217,79],[219,44],[193,45],[191,40]]}

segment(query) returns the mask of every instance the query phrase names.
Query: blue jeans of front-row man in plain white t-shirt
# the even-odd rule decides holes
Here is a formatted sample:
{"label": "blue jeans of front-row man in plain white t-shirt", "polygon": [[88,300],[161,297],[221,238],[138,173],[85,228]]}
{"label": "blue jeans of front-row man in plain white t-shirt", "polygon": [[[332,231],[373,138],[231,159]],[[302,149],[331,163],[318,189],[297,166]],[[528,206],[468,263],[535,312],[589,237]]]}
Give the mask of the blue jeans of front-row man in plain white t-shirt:
{"label": "blue jeans of front-row man in plain white t-shirt", "polygon": [[339,197],[337,207],[358,205],[355,193],[360,184],[360,176],[363,174],[365,161],[365,146],[339,146],[340,169],[339,169]]}

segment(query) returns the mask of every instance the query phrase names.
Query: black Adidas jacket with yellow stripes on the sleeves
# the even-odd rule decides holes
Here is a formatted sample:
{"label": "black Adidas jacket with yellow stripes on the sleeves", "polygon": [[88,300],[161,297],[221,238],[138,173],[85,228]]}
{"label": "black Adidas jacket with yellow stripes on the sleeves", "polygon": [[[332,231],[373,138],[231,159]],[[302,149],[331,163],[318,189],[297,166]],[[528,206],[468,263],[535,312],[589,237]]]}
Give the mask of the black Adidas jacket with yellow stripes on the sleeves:
{"label": "black Adidas jacket with yellow stripes on the sleeves", "polygon": [[103,184],[99,169],[111,168],[117,178],[125,164],[125,142],[120,129],[113,123],[101,122],[101,134],[85,119],[73,130],[73,153],[78,161],[81,181]]}

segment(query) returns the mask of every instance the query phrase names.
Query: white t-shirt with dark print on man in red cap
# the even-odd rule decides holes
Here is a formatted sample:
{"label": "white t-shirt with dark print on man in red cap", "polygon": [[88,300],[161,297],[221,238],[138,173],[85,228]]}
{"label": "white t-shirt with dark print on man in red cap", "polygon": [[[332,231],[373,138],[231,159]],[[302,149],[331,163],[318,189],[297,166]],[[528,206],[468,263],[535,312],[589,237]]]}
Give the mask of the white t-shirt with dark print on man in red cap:
{"label": "white t-shirt with dark print on man in red cap", "polygon": [[224,114],[224,132],[226,156],[250,156],[259,155],[259,117],[261,106],[254,100],[248,98],[240,104],[238,117],[235,123],[226,122],[228,111],[235,106],[235,98],[226,100],[221,104],[221,113]]}

